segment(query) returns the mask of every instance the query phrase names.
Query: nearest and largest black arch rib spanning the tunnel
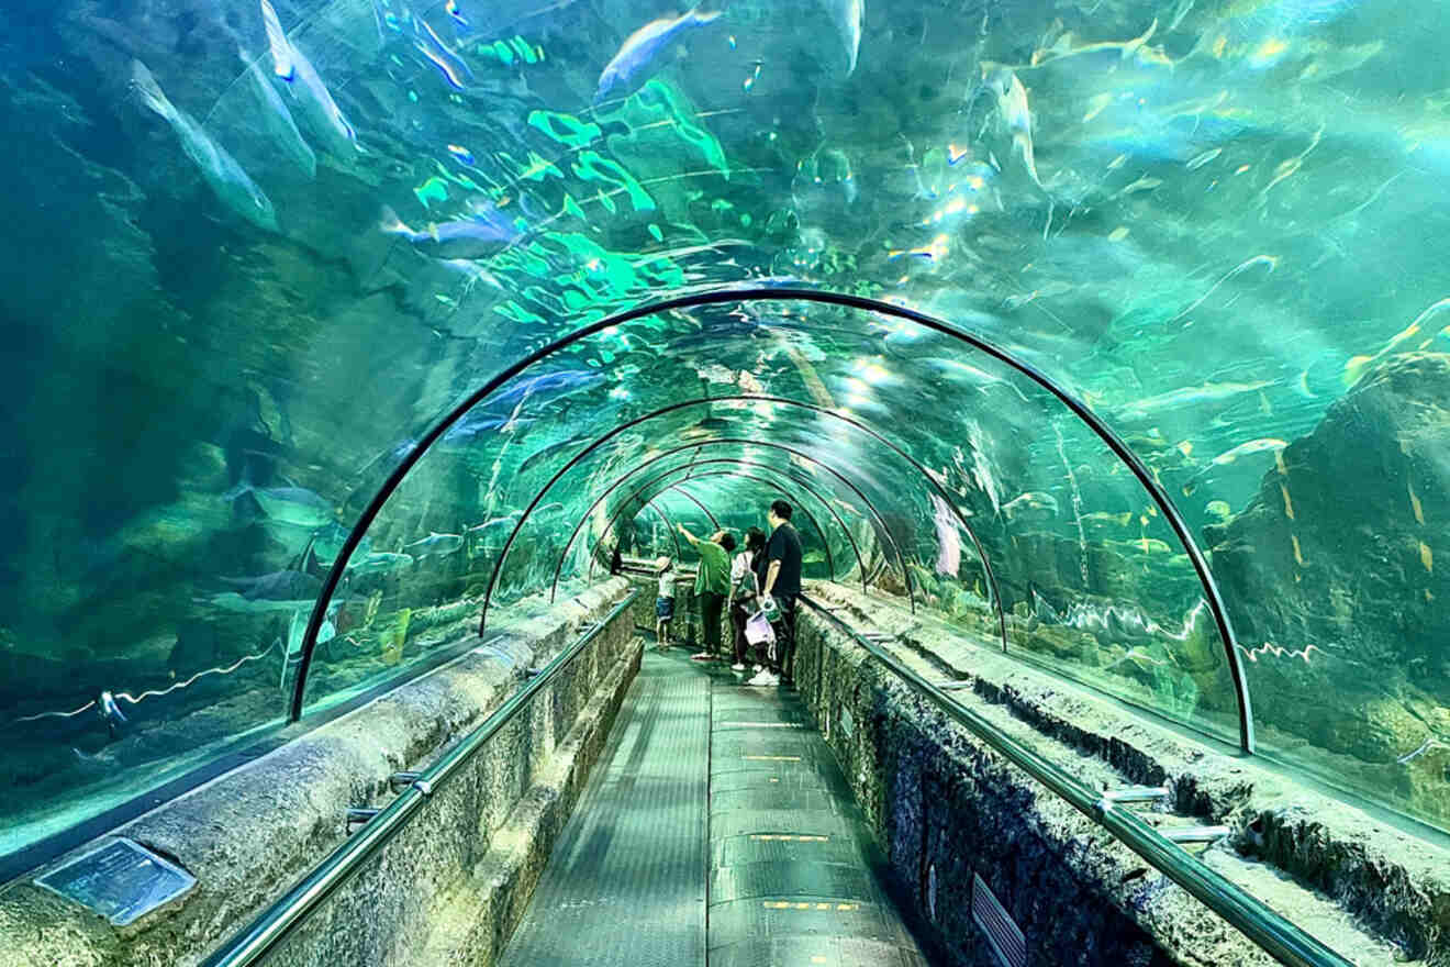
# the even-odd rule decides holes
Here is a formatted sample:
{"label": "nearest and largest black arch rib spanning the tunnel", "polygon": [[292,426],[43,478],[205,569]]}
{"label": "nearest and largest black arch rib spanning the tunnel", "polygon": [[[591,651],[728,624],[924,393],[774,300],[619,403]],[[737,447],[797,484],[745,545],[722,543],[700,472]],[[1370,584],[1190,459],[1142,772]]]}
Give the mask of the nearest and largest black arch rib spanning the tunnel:
{"label": "nearest and largest black arch rib spanning the tunnel", "polygon": [[[861,312],[877,313],[895,319],[905,319],[908,322],[915,322],[932,332],[938,332],[951,339],[957,339],[972,348],[990,355],[999,362],[1005,362],[1022,375],[1028,377],[1040,387],[1051,393],[1060,403],[1067,406],[1069,410],[1077,416],[1079,420],[1086,423],[1098,436],[1102,439],[1109,449],[1124,462],[1128,470],[1138,478],[1138,483],[1148,491],[1153,502],[1163,512],[1164,519],[1173,532],[1177,535],[1179,541],[1183,544],[1185,551],[1188,551],[1189,563],[1193,565],[1193,571],[1198,574],[1199,583],[1204,587],[1204,594],[1208,600],[1209,610],[1214,612],[1214,622],[1218,626],[1219,638],[1224,642],[1224,655],[1228,661],[1230,674],[1234,681],[1235,697],[1238,700],[1238,735],[1240,748],[1244,752],[1254,751],[1254,723],[1253,723],[1253,706],[1248,697],[1248,687],[1244,678],[1243,663],[1238,658],[1238,639],[1234,635],[1232,623],[1228,618],[1228,609],[1224,603],[1224,597],[1218,590],[1218,583],[1214,580],[1212,573],[1208,568],[1208,560],[1204,557],[1202,549],[1193,539],[1188,523],[1183,520],[1183,515],[1179,512],[1173,499],[1169,497],[1167,491],[1153,478],[1153,473],[1148,470],[1147,464],[1132,452],[1132,449],[1109,428],[1092,409],[1079,400],[1076,396],[1069,393],[1066,389],[1057,384],[1056,380],[1047,374],[1037,370],[1030,362],[1018,360],[1014,354],[987,342],[986,339],[956,329],[954,326],[941,322],[934,316],[916,312],[915,309],[906,309],[905,306],[893,306],[886,302],[879,302],[876,299],[867,299],[864,296],[847,296],[844,293],[832,291],[818,291],[811,289],[790,289],[790,287],[773,287],[773,286],[748,286],[748,287],[725,287],[712,291],[692,293],[689,296],[677,296],[674,299],[666,299],[661,302],[635,306],[624,312],[618,312],[612,316],[597,319],[592,323],[580,326],[574,332],[561,336],[544,346],[539,346],[534,352],[529,352],[523,358],[515,361],[512,365],[505,368],[502,373],[494,375],[492,380],[484,383],[478,390],[468,394],[458,406],[448,412],[438,423],[432,426],[423,436],[413,444],[413,447],[403,455],[399,464],[378,487],[377,493],[364,507],[362,513],[358,516],[352,531],[348,534],[347,541],[344,541],[342,548],[338,552],[336,560],[328,570],[328,576],[323,580],[322,590],[318,594],[318,600],[313,605],[312,616],[307,619],[307,631],[303,634],[302,642],[302,661],[297,668],[297,680],[293,686],[291,696],[291,721],[302,718],[303,696],[307,686],[307,673],[312,668],[312,657],[318,647],[318,632],[322,629],[322,622],[326,618],[328,606],[332,603],[332,596],[338,590],[338,583],[342,574],[347,571],[347,564],[351,561],[352,554],[357,551],[358,544],[367,534],[373,520],[383,510],[389,497],[393,491],[402,486],[403,478],[412,471],[425,452],[438,439],[448,432],[460,419],[464,418],[468,410],[489,399],[499,387],[519,375],[523,370],[529,368],[541,360],[566,349],[581,339],[609,329],[612,326],[621,326],[635,319],[644,319],[647,316],[654,316],[661,312],[671,312],[680,309],[693,309],[699,306],[712,306],[722,303],[738,303],[738,302],[808,302],[819,303],[826,306],[841,306],[845,309],[857,309]],[[492,583],[490,583],[492,589]]]}

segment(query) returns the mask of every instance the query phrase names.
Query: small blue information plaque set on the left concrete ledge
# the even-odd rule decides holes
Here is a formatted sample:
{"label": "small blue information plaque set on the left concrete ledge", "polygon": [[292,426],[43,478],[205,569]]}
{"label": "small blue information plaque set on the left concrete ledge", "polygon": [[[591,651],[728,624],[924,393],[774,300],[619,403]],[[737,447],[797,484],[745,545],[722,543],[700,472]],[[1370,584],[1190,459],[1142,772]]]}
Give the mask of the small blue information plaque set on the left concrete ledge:
{"label": "small blue information plaque set on the left concrete ledge", "polygon": [[115,839],[35,880],[116,926],[126,926],[193,886],[196,877],[132,839]]}

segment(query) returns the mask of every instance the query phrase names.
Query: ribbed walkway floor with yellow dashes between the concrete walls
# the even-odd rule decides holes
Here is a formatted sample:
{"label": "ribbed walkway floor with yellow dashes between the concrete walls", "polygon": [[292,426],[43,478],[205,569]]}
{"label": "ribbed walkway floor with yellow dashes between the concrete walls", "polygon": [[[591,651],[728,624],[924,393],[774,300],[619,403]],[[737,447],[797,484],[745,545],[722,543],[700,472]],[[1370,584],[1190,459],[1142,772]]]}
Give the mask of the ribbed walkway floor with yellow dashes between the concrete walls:
{"label": "ribbed walkway floor with yellow dashes between the concrete walls", "polygon": [[793,692],[645,651],[503,967],[924,967]]}

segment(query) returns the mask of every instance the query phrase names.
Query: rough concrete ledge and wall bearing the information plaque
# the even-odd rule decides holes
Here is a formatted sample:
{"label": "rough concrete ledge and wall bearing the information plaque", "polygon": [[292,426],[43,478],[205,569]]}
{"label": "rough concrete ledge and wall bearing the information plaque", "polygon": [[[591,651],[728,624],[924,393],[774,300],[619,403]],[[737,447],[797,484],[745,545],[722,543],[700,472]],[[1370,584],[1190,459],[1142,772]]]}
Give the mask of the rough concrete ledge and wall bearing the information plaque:
{"label": "rough concrete ledge and wall bearing the information plaque", "polygon": [[[347,808],[386,803],[392,773],[434,761],[512,694],[529,665],[602,621],[626,587],[613,578],[542,616],[500,622],[494,626],[506,626],[505,645],[518,661],[470,652],[115,831],[197,877],[173,908],[120,931],[29,880],[16,881],[0,896],[0,967],[199,963],[345,838]],[[460,634],[471,632],[464,625]],[[302,931],[342,938],[345,947],[313,947],[318,957],[309,960],[304,945],[289,941],[278,951],[287,958],[276,963],[407,963],[426,942],[438,896],[487,854],[632,642],[626,610]]]}

